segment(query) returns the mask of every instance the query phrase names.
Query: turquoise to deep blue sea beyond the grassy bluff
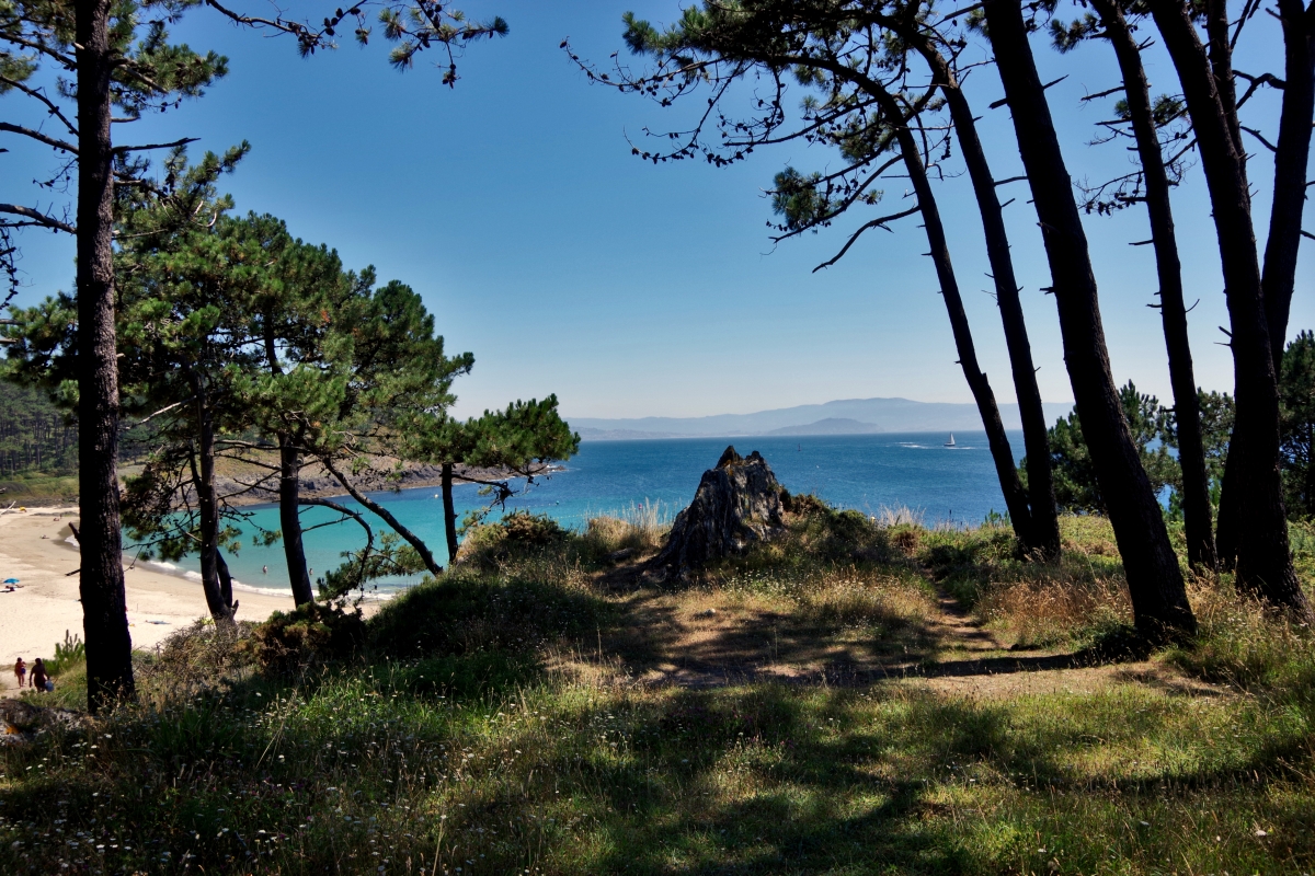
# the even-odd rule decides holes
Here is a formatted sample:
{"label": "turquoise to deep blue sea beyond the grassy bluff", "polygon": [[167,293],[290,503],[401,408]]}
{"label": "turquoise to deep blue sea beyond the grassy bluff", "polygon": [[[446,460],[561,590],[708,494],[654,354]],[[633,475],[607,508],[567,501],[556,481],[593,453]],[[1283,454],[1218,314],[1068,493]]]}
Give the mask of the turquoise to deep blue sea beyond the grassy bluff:
{"label": "turquoise to deep blue sea beyond the grassy bluff", "polygon": [[[590,441],[565,470],[535,483],[508,508],[547,514],[567,527],[583,529],[586,520],[631,506],[658,503],[667,516],[685,507],[698,487],[704,470],[715,465],[727,444],[742,454],[759,450],[776,477],[792,493],[815,493],[827,502],[880,514],[884,508],[907,507],[927,524],[981,523],[992,511],[1003,512],[1005,499],[995,479],[986,437],[981,432],[959,433],[957,447],[947,448],[938,435],[843,435],[815,437],[669,439],[652,441]],[[1020,433],[1010,433],[1014,452],[1022,456]],[[476,485],[454,490],[458,514],[479,507]],[[443,537],[443,504],[438,487],[371,494],[387,504],[398,520],[426,541],[439,562],[447,562]],[[358,507],[350,499],[343,504]],[[274,506],[249,508],[259,525],[277,529]],[[368,512],[366,512],[368,516]],[[327,508],[306,508],[306,528],[337,519]],[[385,529],[381,520],[375,531]],[[305,536],[306,561],[314,575],[337,567],[343,550],[359,549],[364,536],[354,521],[313,529]],[[246,586],[287,588],[288,575],[281,544],[260,548],[245,540],[237,556],[227,556],[233,577]],[[195,558],[181,563],[195,570]],[[268,567],[263,571],[262,567]],[[381,591],[408,580],[379,582]]]}

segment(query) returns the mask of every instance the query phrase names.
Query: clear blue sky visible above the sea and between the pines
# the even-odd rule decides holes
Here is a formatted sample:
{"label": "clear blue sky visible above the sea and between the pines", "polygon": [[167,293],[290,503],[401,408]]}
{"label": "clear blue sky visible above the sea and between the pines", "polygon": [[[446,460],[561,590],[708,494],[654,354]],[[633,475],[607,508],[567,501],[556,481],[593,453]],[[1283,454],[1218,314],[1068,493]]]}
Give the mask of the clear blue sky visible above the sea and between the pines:
{"label": "clear blue sky visible above the sea and between the pines", "polygon": [[[381,280],[421,292],[450,348],[475,353],[473,374],[456,386],[462,414],[548,393],[568,416],[698,416],[874,395],[970,401],[932,267],[919,255],[926,238],[917,219],[894,234],[869,232],[818,273],[811,268],[847,230],[877,213],[856,211],[775,248],[768,240],[772,215],[761,189],[772,175],[785,164],[834,165],[835,155],[788,144],[725,169],[654,167],[630,155],[627,134],[680,126],[701,99],[664,110],[590,87],[558,45],[569,37],[580,55],[606,62],[623,47],[622,12],[668,22],[679,16],[676,0],[481,0],[464,8],[502,14],[512,32],[469,49],[455,89],[439,84],[437,56],[394,71],[381,39],[301,59],[289,39],[193,11],[175,37],[226,54],[231,72],[201,100],[117,137],[192,135],[201,138],[193,148],[213,150],[250,141],[250,158],[225,185],[238,209],[276,214],[293,234],[337,248],[348,265],[373,264]],[[322,14],[312,4],[291,8],[299,9]],[[1130,158],[1120,144],[1088,144],[1111,104],[1078,100],[1118,84],[1112,53],[1091,45],[1060,58],[1040,37],[1034,50],[1047,81],[1068,74],[1048,93],[1073,176],[1123,172]],[[1281,35],[1269,16],[1248,25],[1236,66],[1281,74]],[[1156,50],[1148,68],[1157,93],[1177,91]],[[999,96],[994,71],[976,70],[968,85],[997,177],[1019,173],[1007,109],[988,109]],[[792,102],[801,96],[796,88]],[[24,99],[4,100],[7,118],[25,118]],[[1273,131],[1277,108],[1274,93],[1261,93],[1244,112]],[[51,159],[14,139],[0,155],[0,200],[30,202],[26,181],[49,172]],[[1262,246],[1272,164],[1264,148],[1255,152]],[[885,189],[874,210],[892,211],[903,196],[901,180]],[[1055,305],[1040,292],[1049,280],[1035,213],[1026,185],[1006,190],[1018,197],[1006,218],[1041,393],[1069,401]],[[970,188],[964,177],[948,179],[938,193],[978,357],[997,397],[1013,401],[998,313],[981,292],[990,281]],[[1198,382],[1230,390],[1231,359],[1218,344],[1227,310],[1199,168],[1174,197],[1187,299],[1201,299],[1190,315]],[[1151,247],[1128,246],[1149,236],[1145,214],[1089,217],[1088,234],[1115,378],[1168,402],[1159,311],[1147,307],[1156,290]],[[71,242],[29,232],[22,244],[29,285],[21,301],[71,285]],[[1312,277],[1306,257],[1291,334],[1315,327]]]}

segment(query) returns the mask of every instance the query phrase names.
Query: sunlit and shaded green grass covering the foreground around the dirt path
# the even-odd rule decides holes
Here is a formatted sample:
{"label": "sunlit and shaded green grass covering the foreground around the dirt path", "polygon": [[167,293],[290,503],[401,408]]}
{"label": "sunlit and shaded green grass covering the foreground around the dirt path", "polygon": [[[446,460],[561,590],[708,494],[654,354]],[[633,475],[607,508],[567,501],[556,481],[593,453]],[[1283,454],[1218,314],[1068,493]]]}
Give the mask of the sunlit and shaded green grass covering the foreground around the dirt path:
{"label": "sunlit and shaded green grass covering the foreground around the dirt path", "polygon": [[[998,531],[898,532],[801,520],[785,556],[651,598],[760,600],[826,640],[853,615],[818,594],[861,591],[861,615],[973,582],[1010,630],[1026,602],[1001,591],[1085,582],[1098,603],[1118,575],[1090,521],[1048,571]],[[1198,642],[1089,690],[684,688],[609,653],[639,634],[609,546],[500,548],[327,663],[275,672],[246,632],[188,630],[143,659],[139,704],[0,750],[0,872],[1315,871],[1315,649],[1223,584],[1194,591]]]}

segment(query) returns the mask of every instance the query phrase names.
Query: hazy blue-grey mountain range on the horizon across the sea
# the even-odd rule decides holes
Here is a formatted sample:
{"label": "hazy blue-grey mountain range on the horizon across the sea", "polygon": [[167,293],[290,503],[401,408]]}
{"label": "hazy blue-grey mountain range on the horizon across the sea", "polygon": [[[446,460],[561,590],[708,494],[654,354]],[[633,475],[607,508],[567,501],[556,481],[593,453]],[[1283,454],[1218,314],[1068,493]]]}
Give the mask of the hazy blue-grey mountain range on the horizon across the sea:
{"label": "hazy blue-grey mountain range on the horizon across the sea", "polygon": [[[1053,423],[1072,403],[1045,406]],[[1005,428],[1023,427],[1018,405],[1001,405]],[[874,432],[973,432],[982,427],[976,405],[914,402],[907,398],[851,398],[825,405],[800,405],[756,414],[714,416],[643,416],[636,419],[569,418],[585,441],[736,435],[867,435]]]}

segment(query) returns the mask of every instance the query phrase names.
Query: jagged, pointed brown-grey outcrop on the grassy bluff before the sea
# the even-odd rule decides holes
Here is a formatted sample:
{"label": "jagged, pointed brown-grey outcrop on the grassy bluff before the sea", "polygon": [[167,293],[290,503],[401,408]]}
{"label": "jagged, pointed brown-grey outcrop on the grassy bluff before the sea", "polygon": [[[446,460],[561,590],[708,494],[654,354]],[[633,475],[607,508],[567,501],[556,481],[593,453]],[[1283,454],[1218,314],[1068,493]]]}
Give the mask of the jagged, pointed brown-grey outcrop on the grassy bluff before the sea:
{"label": "jagged, pointed brown-grey outcrop on the grassy bluff before the sea", "polygon": [[652,569],[668,579],[688,578],[709,561],[772,538],[785,528],[784,493],[757,450],[746,458],[726,448],[717,468],[704,471],[694,500],[676,515]]}

